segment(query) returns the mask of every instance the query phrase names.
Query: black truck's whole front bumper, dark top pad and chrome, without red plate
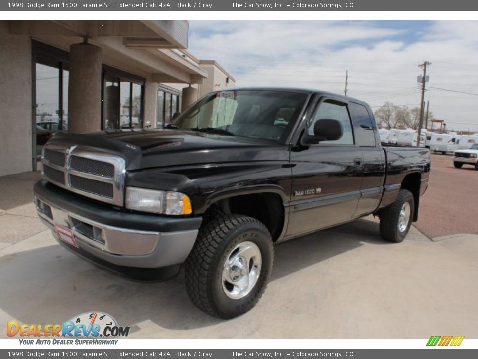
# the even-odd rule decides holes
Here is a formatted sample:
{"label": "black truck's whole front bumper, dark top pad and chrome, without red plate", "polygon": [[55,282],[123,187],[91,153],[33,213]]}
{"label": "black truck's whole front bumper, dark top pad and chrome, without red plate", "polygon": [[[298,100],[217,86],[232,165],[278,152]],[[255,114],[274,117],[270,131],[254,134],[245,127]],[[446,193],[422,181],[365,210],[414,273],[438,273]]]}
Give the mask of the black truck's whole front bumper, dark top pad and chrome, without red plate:
{"label": "black truck's whole front bumper, dark top pad and chrome, without red plate", "polygon": [[[105,266],[160,268],[183,263],[202,218],[125,212],[69,193],[42,180],[34,187],[40,219],[74,253]],[[59,239],[54,225],[72,230],[78,248]],[[115,269],[115,268],[110,268]]]}

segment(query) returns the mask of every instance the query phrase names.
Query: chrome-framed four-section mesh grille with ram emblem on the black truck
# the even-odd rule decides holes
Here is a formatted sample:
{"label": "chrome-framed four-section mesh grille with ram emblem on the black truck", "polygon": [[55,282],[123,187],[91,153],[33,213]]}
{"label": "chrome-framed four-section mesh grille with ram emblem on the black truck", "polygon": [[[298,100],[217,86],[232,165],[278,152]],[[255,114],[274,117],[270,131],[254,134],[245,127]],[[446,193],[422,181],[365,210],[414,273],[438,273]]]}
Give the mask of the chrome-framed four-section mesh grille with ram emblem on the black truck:
{"label": "chrome-framed four-section mesh grille with ram emblem on the black truck", "polygon": [[44,179],[77,194],[123,206],[126,163],[115,153],[54,143],[44,146],[41,162]]}

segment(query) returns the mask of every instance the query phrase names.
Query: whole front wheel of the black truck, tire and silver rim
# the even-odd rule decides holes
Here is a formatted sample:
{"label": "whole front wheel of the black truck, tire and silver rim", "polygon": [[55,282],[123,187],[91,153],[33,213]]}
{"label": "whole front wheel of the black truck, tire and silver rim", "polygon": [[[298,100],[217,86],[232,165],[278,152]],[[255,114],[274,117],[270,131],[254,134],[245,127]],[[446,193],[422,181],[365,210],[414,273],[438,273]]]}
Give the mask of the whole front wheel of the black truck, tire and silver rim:
{"label": "whole front wheel of the black truck, tire and silver rim", "polygon": [[261,222],[217,212],[200,229],[186,260],[188,296],[207,314],[234,318],[259,301],[273,258],[272,238]]}

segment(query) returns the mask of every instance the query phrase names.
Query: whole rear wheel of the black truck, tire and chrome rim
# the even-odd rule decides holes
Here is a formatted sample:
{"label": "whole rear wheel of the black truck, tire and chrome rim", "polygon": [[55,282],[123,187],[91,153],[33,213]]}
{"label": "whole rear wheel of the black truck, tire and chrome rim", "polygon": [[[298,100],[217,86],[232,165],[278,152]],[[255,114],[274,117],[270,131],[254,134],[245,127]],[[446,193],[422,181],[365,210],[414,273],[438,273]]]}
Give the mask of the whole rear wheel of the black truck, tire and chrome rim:
{"label": "whole rear wheel of the black truck, tire and chrome rim", "polygon": [[395,202],[380,213],[380,235],[389,242],[401,242],[412,225],[415,200],[413,194],[401,189]]}

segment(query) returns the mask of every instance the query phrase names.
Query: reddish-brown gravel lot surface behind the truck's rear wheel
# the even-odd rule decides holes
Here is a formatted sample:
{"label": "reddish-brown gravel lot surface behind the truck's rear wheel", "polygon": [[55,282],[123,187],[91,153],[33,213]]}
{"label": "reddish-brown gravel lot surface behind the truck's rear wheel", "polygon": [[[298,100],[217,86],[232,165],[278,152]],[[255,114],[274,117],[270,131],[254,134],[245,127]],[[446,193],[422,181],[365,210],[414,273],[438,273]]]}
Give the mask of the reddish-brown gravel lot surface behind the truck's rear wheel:
{"label": "reddish-brown gravel lot surface behind the truck's rear wheel", "polygon": [[454,233],[478,234],[478,171],[453,167],[450,155],[432,154],[432,171],[415,227],[433,238]]}

